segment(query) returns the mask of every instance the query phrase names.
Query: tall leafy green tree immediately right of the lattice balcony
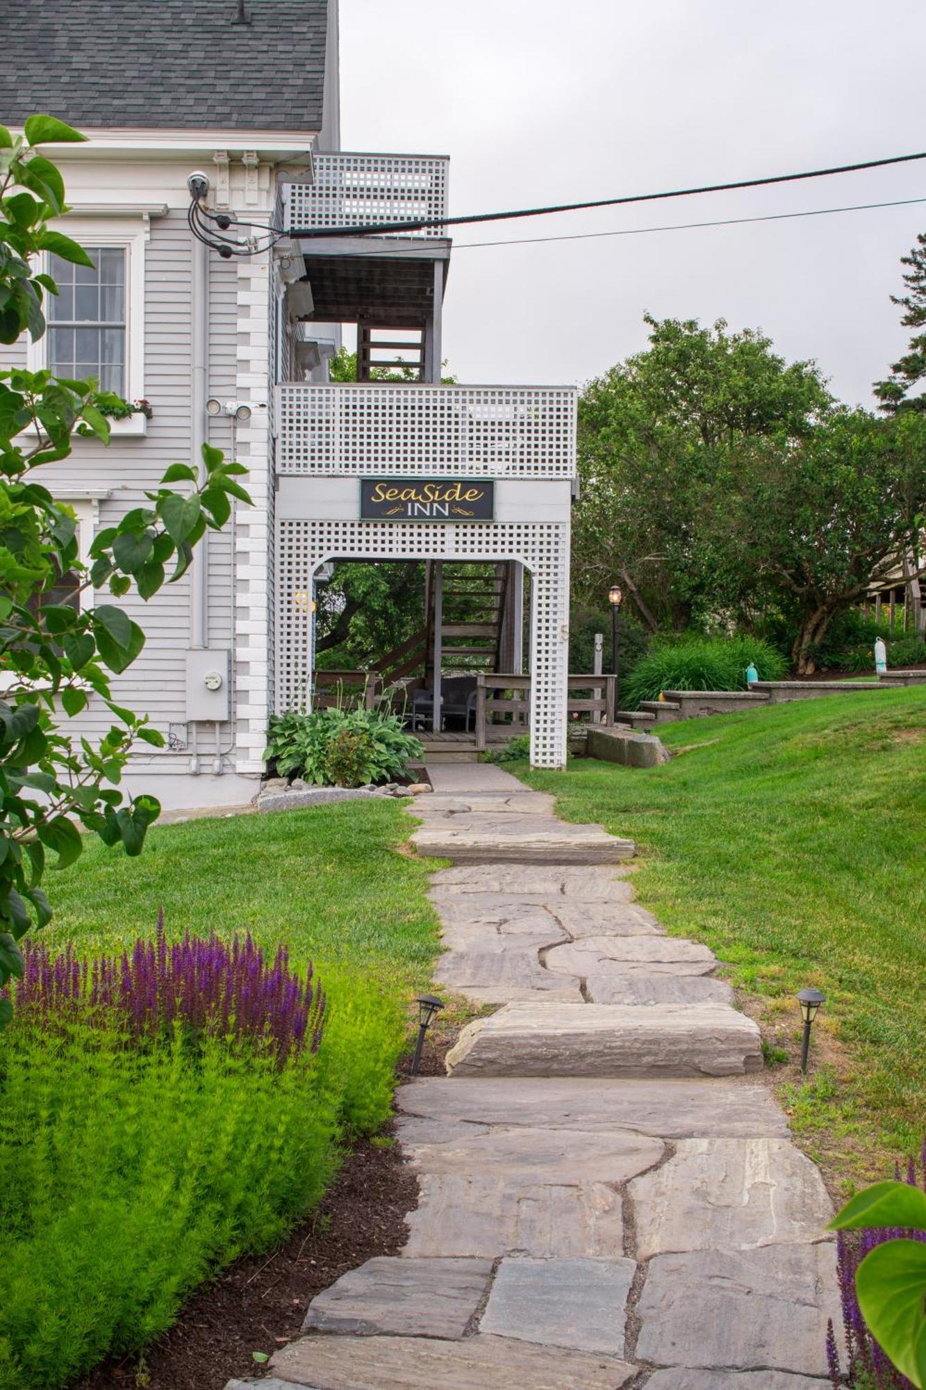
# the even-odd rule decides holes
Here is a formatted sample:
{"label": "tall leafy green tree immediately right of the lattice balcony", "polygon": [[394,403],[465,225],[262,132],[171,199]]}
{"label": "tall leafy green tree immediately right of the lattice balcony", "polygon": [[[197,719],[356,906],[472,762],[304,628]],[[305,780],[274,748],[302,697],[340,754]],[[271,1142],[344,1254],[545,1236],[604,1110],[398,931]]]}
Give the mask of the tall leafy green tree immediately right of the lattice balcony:
{"label": "tall leafy green tree immediately right of the lattice balcony", "polygon": [[649,348],[580,400],[573,587],[595,605],[623,580],[651,628],[684,628],[741,589],[712,524],[719,478],[748,467],[756,441],[806,436],[831,398],[812,363],[787,364],[762,334],[645,321]]}

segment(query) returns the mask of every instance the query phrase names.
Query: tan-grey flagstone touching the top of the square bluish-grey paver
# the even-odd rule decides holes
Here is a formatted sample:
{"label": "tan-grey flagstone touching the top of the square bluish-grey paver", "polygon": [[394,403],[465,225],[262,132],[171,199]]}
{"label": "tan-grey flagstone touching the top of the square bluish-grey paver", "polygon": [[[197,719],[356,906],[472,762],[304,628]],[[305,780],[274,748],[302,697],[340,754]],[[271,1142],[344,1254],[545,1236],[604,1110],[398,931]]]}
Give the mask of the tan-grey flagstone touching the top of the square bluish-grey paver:
{"label": "tan-grey flagstone touching the top of the square bluish-grey paver", "polygon": [[606,1183],[423,1173],[403,1257],[623,1254],[622,1201]]}

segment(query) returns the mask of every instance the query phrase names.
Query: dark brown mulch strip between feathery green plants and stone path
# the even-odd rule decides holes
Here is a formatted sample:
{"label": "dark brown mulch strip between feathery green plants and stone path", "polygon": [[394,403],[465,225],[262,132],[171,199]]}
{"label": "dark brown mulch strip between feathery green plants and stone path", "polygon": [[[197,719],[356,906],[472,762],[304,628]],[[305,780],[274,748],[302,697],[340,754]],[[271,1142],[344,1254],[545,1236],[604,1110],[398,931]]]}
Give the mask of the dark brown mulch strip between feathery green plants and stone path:
{"label": "dark brown mulch strip between feathery green plants and stone path", "polygon": [[[456,1029],[432,1029],[421,1076],[444,1076]],[[407,1074],[412,1056],[402,1058]],[[107,1361],[75,1390],[224,1390],[228,1380],[260,1376],[252,1352],[271,1354],[300,1336],[306,1308],[349,1269],[374,1255],[398,1255],[419,1184],[389,1125],[352,1151],[328,1194],[285,1245],[239,1259],[200,1289],[174,1326],[140,1357]]]}

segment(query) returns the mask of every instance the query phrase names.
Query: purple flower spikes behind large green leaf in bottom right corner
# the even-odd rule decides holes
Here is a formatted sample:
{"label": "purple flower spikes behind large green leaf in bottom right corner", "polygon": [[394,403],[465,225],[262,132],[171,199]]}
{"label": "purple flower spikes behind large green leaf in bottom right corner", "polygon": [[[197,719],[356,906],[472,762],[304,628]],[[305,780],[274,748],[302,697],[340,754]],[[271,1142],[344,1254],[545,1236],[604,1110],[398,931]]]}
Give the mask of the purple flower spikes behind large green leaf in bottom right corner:
{"label": "purple flower spikes behind large green leaf in bottom right corner", "polygon": [[[894,1165],[894,1180],[898,1183],[902,1180],[908,1187],[922,1187],[926,1191],[926,1141],[923,1141],[920,1152],[919,1172],[911,1158],[907,1163],[907,1173],[902,1177],[900,1163]],[[834,1390],[838,1390],[840,1386],[852,1386],[854,1390],[916,1390],[913,1382],[901,1375],[872,1336],[859,1307],[855,1282],[858,1268],[865,1257],[887,1241],[897,1240],[912,1240],[926,1244],[926,1230],[900,1226],[873,1226],[861,1230],[847,1229],[836,1232],[837,1277],[845,1336],[847,1372],[843,1373],[841,1371],[836,1332],[830,1322],[826,1337],[826,1359]]]}

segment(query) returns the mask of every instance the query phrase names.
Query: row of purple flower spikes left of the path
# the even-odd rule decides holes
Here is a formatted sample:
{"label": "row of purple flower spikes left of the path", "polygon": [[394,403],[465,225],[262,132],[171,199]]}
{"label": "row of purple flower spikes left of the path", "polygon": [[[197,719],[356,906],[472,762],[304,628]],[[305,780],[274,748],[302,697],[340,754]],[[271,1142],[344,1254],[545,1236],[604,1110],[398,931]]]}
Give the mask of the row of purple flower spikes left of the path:
{"label": "row of purple flower spikes left of the path", "polygon": [[252,1038],[282,1065],[318,1048],[325,997],[311,981],[311,965],[302,980],[285,947],[267,960],[250,933],[231,945],[189,933],[168,944],[159,915],[154,941],[136,941],[131,955],[88,962],[71,942],[54,956],[44,942],[26,942],[15,1004],[44,1027],[74,1017],[106,1024],[115,1015],[135,1038],[170,1036],[178,1023],[195,1036]]}

